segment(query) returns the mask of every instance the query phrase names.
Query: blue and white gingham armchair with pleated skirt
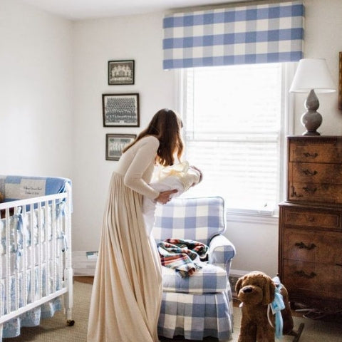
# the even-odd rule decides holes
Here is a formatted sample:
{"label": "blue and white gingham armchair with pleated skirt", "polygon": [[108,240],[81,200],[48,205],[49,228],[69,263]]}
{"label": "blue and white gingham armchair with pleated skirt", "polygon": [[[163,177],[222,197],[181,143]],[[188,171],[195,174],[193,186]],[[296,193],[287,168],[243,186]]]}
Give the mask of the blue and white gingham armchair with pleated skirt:
{"label": "blue and white gingham armchair with pleated skirt", "polygon": [[229,269],[235,255],[225,230],[224,199],[198,197],[172,199],[157,205],[153,237],[158,243],[168,238],[192,239],[209,246],[207,265],[182,278],[162,266],[163,294],[158,334],[167,338],[184,336],[219,341],[232,338],[232,290]]}

